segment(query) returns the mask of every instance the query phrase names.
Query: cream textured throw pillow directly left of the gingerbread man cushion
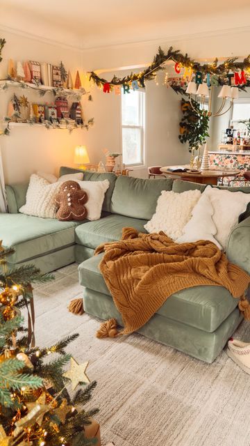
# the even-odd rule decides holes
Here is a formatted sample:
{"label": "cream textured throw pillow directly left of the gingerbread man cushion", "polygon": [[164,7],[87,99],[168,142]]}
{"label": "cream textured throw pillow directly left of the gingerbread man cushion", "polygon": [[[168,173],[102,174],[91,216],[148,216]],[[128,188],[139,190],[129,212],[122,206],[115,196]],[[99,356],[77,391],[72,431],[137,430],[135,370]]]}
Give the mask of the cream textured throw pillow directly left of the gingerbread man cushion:
{"label": "cream textured throw pillow directly left of the gingerbread man cushion", "polygon": [[49,181],[33,174],[28,185],[26,204],[19,212],[35,217],[56,218],[55,197],[61,183],[50,184]]}

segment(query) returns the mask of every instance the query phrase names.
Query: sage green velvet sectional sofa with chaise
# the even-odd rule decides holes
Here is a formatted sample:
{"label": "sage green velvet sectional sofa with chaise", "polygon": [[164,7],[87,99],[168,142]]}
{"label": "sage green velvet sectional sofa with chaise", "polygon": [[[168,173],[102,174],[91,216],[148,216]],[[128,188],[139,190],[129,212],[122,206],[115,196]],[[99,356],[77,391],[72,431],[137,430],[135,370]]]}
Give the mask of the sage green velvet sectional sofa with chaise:
{"label": "sage green velvet sectional sofa with chaise", "polygon": [[[60,175],[77,169],[62,167]],[[0,238],[15,247],[11,265],[34,263],[47,272],[77,261],[79,280],[83,285],[85,312],[101,319],[121,316],[99,272],[101,255],[94,249],[104,242],[118,240],[124,226],[146,232],[144,224],[156,210],[162,190],[183,192],[204,190],[182,180],[116,177],[85,171],[85,180],[110,180],[103,202],[101,219],[90,222],[58,222],[18,213],[24,204],[28,185],[6,187],[9,213],[0,215]],[[249,194],[250,187],[230,188]],[[171,210],[169,209],[169,212]],[[250,216],[233,229],[228,240],[228,258],[250,273]],[[151,339],[177,348],[206,362],[213,362],[228,337],[238,327],[242,316],[238,300],[221,286],[197,286],[179,291],[167,299],[158,312],[139,332]]]}

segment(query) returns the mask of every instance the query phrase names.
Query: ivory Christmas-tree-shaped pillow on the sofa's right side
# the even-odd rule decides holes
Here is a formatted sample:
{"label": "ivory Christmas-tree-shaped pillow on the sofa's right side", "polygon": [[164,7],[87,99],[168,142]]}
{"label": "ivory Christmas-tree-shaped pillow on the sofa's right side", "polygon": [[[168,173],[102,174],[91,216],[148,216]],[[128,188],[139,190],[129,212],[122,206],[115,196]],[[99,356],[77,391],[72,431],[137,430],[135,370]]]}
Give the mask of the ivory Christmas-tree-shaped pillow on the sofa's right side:
{"label": "ivory Christmas-tree-shaped pillow on the sofa's right side", "polygon": [[214,209],[209,197],[201,194],[201,198],[192,210],[191,220],[184,226],[183,235],[177,238],[176,243],[190,243],[198,240],[210,240],[219,249],[222,246],[215,238],[217,227],[213,221]]}

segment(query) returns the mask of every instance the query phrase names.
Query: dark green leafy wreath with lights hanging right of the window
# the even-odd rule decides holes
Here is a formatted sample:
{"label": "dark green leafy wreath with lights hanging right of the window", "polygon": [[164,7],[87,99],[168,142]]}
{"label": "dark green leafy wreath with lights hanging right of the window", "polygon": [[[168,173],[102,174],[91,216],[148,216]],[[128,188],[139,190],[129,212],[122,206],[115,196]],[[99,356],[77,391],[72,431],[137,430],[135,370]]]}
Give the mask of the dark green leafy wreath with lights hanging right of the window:
{"label": "dark green leafy wreath with lights hanging right of the window", "polygon": [[191,99],[181,100],[181,111],[183,112],[183,118],[180,122],[180,134],[178,138],[182,144],[188,142],[189,151],[192,148],[198,149],[199,146],[206,143],[209,126],[209,116],[205,111],[201,114],[201,107],[199,102]]}

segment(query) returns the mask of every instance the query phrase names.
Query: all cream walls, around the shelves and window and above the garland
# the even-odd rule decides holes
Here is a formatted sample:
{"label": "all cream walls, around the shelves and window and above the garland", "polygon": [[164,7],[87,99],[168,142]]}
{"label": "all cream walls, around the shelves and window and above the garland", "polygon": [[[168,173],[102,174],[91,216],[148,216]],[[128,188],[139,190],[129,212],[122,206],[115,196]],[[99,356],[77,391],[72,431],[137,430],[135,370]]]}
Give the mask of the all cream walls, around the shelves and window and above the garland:
{"label": "all cream walls, around the shelves and window and above the garland", "polygon": [[[207,24],[208,26],[208,24]],[[189,31],[189,30],[188,30]],[[194,59],[215,58],[215,56],[245,56],[249,52],[250,31],[216,31],[199,33],[197,36],[174,38],[164,41],[135,43],[89,49],[77,52],[56,45],[48,45],[38,40],[15,36],[1,32],[7,40],[3,49],[3,62],[0,64],[0,75],[6,75],[8,59],[38,60],[58,63],[62,60],[66,68],[75,75],[77,69],[111,70],[119,75],[119,68],[150,63],[156,54],[158,45],[167,49],[170,45],[188,52]],[[192,32],[192,29],[190,29]],[[110,79],[111,75],[103,74]],[[104,94],[96,86],[91,93],[94,102],[83,100],[86,118],[94,116],[94,128],[89,132],[67,131],[41,128],[17,127],[10,137],[1,137],[3,168],[6,182],[26,180],[35,169],[44,169],[56,173],[63,164],[73,164],[74,146],[86,144],[90,161],[104,161],[103,148],[110,151],[121,151],[120,99],[115,94]],[[21,92],[22,94],[22,92]],[[8,104],[7,93],[0,93],[0,115],[6,114]],[[2,99],[4,98],[4,99]],[[147,166],[153,164],[181,164],[188,162],[188,146],[178,141],[178,123],[181,118],[181,96],[172,89],[167,89],[159,82],[147,82]],[[134,175],[147,176],[147,169],[134,171]]]}

